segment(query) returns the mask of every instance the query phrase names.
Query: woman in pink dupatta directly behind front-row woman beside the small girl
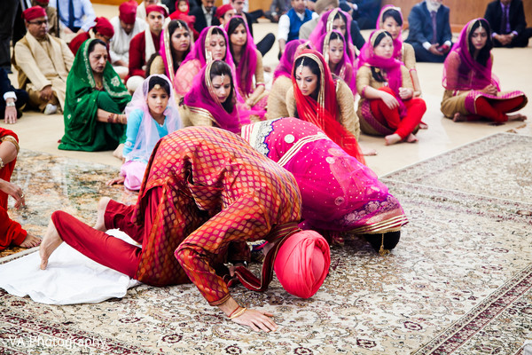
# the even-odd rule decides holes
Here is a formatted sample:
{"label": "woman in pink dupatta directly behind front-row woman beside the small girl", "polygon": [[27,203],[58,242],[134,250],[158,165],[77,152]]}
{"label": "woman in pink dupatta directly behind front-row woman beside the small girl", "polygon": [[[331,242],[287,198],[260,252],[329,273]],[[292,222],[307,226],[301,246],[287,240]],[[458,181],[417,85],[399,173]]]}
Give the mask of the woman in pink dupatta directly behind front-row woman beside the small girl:
{"label": "woman in pink dupatta directly behind front-row woman beside the small girl", "polygon": [[191,90],[194,77],[211,60],[224,60],[231,66],[232,72],[235,72],[227,43],[229,41],[223,28],[217,26],[203,28],[200,38],[194,43],[194,49],[188,53],[181,67],[177,69],[174,79],[177,99],[181,99]]}

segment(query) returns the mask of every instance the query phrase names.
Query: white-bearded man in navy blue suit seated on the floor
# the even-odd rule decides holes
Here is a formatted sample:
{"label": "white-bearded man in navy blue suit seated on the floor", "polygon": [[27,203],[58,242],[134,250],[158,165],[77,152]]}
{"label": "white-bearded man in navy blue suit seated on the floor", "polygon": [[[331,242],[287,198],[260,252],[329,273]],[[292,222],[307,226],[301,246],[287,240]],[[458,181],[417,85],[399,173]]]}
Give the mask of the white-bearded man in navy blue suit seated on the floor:
{"label": "white-bearded man in navy blue suit seated on the floor", "polygon": [[409,33],[406,43],[411,43],[417,61],[442,63],[452,45],[449,7],[443,0],[425,0],[412,7],[408,16]]}

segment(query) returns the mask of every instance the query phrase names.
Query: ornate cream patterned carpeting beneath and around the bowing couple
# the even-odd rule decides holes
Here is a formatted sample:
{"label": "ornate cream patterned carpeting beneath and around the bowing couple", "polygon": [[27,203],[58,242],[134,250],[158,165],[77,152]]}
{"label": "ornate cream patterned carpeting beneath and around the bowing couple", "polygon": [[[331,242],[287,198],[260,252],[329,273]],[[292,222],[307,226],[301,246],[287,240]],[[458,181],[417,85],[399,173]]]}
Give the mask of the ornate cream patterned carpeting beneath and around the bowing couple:
{"label": "ornate cream patterned carpeting beneath and around the bowing couple", "polygon": [[[384,177],[411,220],[390,255],[357,239],[333,248],[309,300],[277,280],[233,290],[273,312],[276,333],[229,322],[191,285],[69,306],[0,290],[0,353],[520,354],[532,338],[531,161],[532,137],[497,134]],[[134,201],[103,185],[106,166],[31,152],[19,166],[28,208],[15,217],[35,233],[53,209],[91,221],[100,194]]]}

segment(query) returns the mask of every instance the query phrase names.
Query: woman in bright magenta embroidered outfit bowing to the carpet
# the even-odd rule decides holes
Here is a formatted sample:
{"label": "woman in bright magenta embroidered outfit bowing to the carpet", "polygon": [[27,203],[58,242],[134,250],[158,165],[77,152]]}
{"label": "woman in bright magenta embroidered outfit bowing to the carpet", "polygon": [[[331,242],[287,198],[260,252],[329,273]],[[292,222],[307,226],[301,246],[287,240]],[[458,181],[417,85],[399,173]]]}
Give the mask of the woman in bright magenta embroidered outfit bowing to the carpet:
{"label": "woman in bright magenta embroidered outfit bowing to the carpet", "polygon": [[303,228],[328,231],[332,244],[343,244],[342,234],[349,232],[364,234],[381,253],[395,248],[408,222],[399,201],[323,130],[287,117],[246,125],[242,138],[293,174]]}

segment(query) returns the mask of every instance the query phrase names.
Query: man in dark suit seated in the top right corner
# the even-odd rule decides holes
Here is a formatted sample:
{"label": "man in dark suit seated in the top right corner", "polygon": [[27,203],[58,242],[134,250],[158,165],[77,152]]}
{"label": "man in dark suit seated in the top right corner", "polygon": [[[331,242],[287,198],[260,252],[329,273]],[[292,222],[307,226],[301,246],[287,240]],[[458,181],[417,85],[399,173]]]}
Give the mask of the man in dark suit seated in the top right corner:
{"label": "man in dark suit seated in the top right corner", "polygon": [[532,28],[527,28],[521,0],[496,0],[489,3],[484,19],[489,22],[493,44],[496,47],[528,46]]}

